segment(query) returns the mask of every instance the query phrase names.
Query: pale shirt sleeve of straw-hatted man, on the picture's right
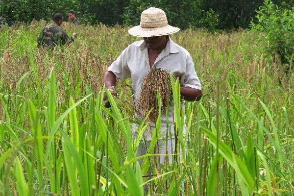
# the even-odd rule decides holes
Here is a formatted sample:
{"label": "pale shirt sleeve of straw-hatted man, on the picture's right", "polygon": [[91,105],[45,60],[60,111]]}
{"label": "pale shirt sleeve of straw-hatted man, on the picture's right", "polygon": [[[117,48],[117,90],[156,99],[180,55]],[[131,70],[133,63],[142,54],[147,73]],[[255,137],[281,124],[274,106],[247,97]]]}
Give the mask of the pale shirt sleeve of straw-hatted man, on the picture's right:
{"label": "pale shirt sleeve of straw-hatted man, on the picture's right", "polygon": [[201,90],[201,83],[195,71],[195,66],[191,55],[188,53],[186,59],[186,72],[181,77],[181,83],[183,87],[191,87]]}

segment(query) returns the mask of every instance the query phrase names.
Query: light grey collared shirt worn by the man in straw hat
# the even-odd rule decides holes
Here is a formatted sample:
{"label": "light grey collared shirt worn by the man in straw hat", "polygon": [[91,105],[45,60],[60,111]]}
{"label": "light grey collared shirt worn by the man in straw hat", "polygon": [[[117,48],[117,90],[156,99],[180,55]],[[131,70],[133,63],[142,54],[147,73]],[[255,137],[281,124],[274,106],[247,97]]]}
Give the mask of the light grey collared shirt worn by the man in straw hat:
{"label": "light grey collared shirt worn by the man in straw hat", "polygon": [[[169,38],[166,48],[161,51],[157,59],[154,62],[156,68],[166,70],[174,75],[175,78],[179,77],[180,86],[191,87],[201,90],[201,84],[197,77],[194,63],[189,52],[175,44],[171,38]],[[154,66],[153,65],[153,66]],[[123,50],[121,55],[110,65],[108,71],[116,75],[116,79],[124,80],[126,78],[132,79],[132,88],[134,93],[134,104],[138,102],[138,98],[141,92],[141,85],[147,72],[150,71],[148,49],[144,40],[137,41],[129,45]],[[184,105],[183,105],[184,106]],[[168,130],[174,134],[174,122],[173,111],[174,108],[169,108],[168,121],[171,125]],[[185,117],[184,117],[185,118]],[[167,119],[165,113],[161,117],[162,125],[161,130],[167,130]],[[151,129],[144,132],[145,139],[151,140],[154,123],[151,124]],[[133,124],[133,135],[137,135],[136,129],[139,128],[138,124]],[[184,127],[184,134],[186,133],[186,127]],[[165,134],[163,134],[165,135]]]}

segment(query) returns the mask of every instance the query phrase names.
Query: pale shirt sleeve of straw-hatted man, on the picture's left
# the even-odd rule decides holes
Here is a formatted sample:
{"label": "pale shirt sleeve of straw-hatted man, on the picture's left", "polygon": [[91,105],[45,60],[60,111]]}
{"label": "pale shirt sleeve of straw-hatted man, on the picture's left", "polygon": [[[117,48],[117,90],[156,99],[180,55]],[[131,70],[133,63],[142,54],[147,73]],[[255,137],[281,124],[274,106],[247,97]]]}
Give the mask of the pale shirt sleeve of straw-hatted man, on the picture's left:
{"label": "pale shirt sleeve of straw-hatted man, on the picture's left", "polygon": [[107,69],[107,71],[115,74],[116,79],[124,80],[131,77],[131,72],[127,65],[129,47],[124,49],[121,55]]}

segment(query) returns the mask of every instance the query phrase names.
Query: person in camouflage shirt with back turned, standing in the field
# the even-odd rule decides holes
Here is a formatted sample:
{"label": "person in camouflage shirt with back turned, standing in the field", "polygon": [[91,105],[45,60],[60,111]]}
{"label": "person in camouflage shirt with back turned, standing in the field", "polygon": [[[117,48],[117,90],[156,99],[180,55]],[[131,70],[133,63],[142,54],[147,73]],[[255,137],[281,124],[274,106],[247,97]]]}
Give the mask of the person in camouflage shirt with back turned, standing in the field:
{"label": "person in camouflage shirt with back turned, standing in the field", "polygon": [[73,33],[70,38],[68,34],[60,28],[63,23],[62,14],[55,14],[53,18],[53,23],[51,25],[44,26],[41,30],[39,37],[37,38],[38,46],[44,48],[54,49],[55,46],[68,46],[77,36],[77,33]]}

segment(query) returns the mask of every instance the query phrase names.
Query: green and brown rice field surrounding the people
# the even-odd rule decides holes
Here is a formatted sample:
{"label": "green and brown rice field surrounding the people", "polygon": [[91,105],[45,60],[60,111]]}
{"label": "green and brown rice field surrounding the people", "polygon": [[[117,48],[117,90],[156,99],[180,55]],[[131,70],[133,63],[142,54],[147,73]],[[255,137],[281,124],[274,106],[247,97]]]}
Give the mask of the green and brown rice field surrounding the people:
{"label": "green and brown rice field surrounding the people", "polygon": [[103,85],[140,38],[127,27],[63,23],[78,37],[50,52],[37,48],[44,25],[0,28],[0,196],[143,196],[144,186],[151,196],[294,195],[294,73],[286,79],[278,56],[253,52],[253,32],[171,35],[192,55],[204,96],[181,109],[171,79],[174,148],[185,158],[159,165],[155,132],[139,165],[131,81],[118,82],[118,97],[106,90],[111,108]]}

